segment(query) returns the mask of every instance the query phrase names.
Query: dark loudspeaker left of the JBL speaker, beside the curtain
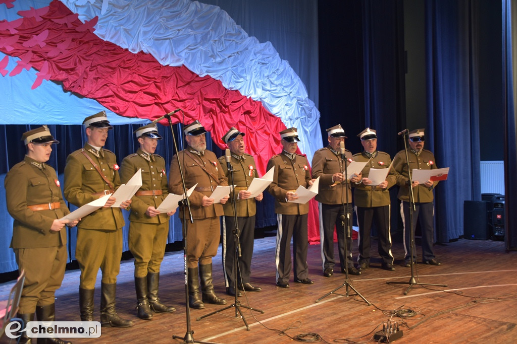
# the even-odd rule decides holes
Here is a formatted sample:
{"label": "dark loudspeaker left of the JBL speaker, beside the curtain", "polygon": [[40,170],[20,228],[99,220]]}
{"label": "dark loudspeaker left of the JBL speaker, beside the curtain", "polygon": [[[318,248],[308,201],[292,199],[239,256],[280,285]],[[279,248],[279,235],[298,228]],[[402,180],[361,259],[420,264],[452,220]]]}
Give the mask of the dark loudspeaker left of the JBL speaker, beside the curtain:
{"label": "dark loudspeaker left of the JBL speaker, beside the curtain", "polygon": [[463,238],[488,240],[488,201],[464,201]]}

